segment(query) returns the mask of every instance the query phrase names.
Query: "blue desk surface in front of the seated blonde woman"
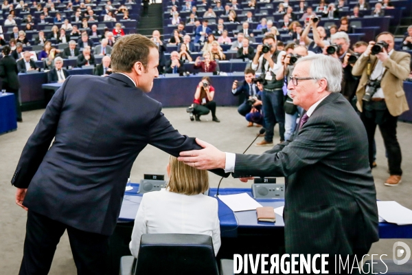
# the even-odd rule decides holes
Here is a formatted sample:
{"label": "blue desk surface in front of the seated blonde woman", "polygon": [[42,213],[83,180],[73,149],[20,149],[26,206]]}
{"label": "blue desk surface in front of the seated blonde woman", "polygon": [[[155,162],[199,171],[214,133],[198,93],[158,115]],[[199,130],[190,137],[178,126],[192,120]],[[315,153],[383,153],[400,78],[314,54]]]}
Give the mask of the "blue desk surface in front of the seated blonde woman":
{"label": "blue desk surface in front of the seated blonde woman", "polygon": [[[125,192],[125,195],[134,195],[141,197],[142,195],[137,194],[139,190],[139,184],[130,184],[133,190]],[[220,188],[220,195],[232,195],[242,192],[247,192],[250,196],[250,188]],[[209,196],[215,197],[216,188],[210,188]],[[140,201],[140,200],[137,200]],[[277,208],[284,205],[284,199],[257,199],[257,201],[263,206],[272,206]],[[133,219],[122,218],[122,211],[125,208],[132,207],[133,211],[136,213],[139,208],[138,203],[132,203],[130,201],[124,201],[122,204],[122,210],[120,212],[119,221],[133,221]],[[256,219],[256,211],[244,211],[244,212],[233,212],[225,203],[218,199],[218,217],[220,220],[220,235],[225,237],[236,237],[238,236],[238,229],[266,229],[266,230],[276,230],[284,228],[284,221],[281,216],[276,214],[276,222],[260,222]],[[129,209],[130,210],[130,209]],[[412,225],[396,225],[393,223],[379,223],[379,236],[380,239],[412,239]]]}

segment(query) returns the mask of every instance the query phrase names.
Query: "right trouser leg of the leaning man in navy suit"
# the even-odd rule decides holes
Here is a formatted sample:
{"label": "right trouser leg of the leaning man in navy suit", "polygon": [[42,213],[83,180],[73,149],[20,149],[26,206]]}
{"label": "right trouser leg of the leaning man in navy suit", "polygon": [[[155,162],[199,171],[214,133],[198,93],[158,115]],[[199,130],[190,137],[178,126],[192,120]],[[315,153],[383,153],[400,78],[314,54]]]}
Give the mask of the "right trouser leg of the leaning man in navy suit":
{"label": "right trouser leg of the leaning man in navy suit", "polygon": [[78,275],[102,275],[106,272],[109,236],[67,227],[71,252]]}

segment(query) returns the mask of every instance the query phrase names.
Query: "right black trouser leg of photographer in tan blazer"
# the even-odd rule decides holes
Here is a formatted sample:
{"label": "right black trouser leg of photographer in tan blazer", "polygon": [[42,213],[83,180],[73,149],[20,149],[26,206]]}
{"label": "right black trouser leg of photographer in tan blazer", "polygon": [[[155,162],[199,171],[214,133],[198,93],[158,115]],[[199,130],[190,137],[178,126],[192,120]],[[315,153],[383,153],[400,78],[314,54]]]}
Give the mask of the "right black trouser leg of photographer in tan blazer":
{"label": "right black trouser leg of photographer in tan blazer", "polygon": [[402,153],[400,151],[398,138],[396,137],[398,117],[391,115],[389,111],[386,112],[386,119],[384,122],[379,124],[379,129],[383,137],[383,142],[385,143],[389,164],[389,174],[402,175],[402,168],[400,168],[400,164],[402,162]]}

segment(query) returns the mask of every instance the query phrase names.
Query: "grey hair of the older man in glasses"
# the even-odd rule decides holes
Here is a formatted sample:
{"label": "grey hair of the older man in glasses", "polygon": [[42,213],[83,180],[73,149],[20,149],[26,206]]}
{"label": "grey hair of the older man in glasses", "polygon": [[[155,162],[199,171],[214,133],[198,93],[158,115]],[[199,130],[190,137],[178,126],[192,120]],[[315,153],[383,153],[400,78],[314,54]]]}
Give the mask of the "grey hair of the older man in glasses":
{"label": "grey hair of the older man in glasses", "polygon": [[341,91],[343,72],[342,63],[338,58],[323,54],[314,54],[312,56],[299,58],[296,65],[306,61],[310,62],[309,77],[317,80],[325,78],[328,83],[326,90],[331,93],[339,93]]}

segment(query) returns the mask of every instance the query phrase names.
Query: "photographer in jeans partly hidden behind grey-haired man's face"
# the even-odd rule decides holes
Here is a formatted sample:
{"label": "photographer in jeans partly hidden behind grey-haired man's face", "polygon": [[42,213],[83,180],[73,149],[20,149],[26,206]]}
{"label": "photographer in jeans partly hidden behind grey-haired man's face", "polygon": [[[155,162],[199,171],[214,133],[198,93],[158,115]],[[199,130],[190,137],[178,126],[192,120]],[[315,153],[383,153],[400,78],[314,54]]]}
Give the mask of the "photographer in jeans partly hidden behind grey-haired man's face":
{"label": "photographer in jeans partly hidden behind grey-haired man's face", "polygon": [[[308,49],[304,45],[296,45],[293,48],[292,54],[288,53],[289,50],[286,51],[286,54],[282,54],[282,67],[279,68],[277,71],[276,79],[283,80],[286,76],[286,82],[290,79],[290,76],[293,74],[293,69],[295,69],[295,63],[297,59],[307,56]],[[290,97],[290,91],[288,90],[288,94],[286,96],[286,100],[284,101],[284,110],[285,110],[285,140],[290,140],[290,137],[293,136],[296,129],[296,120],[299,118],[301,114],[301,107],[297,107],[293,104],[293,98]]]}

